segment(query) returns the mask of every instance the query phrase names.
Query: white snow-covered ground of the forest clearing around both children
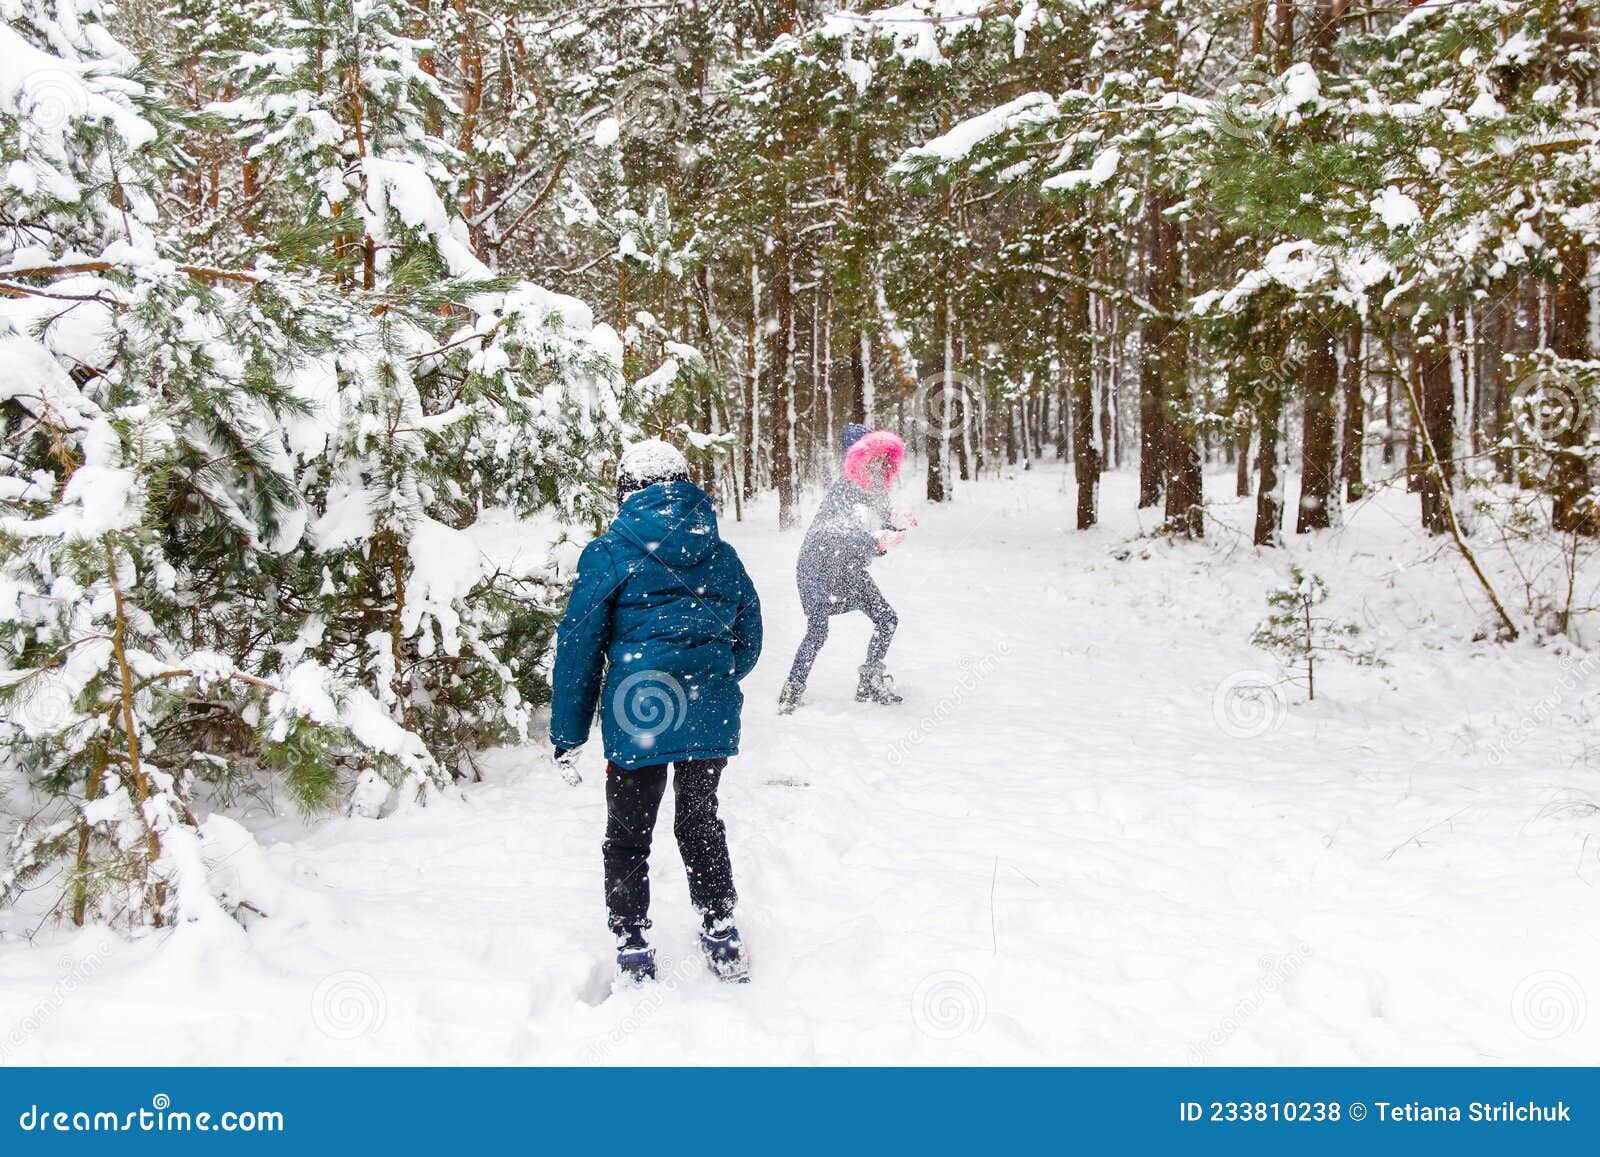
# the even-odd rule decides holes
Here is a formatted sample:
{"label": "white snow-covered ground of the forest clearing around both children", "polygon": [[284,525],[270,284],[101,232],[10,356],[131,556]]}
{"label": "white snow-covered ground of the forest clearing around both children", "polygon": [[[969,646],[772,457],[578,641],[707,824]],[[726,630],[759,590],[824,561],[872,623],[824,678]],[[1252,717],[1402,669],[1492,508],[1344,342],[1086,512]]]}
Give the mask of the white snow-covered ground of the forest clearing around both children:
{"label": "white snow-covered ground of the forest clearing around both children", "polygon": [[725,526],[768,619],[723,792],[750,986],[702,973],[664,819],[664,979],[606,999],[600,754],[568,789],[496,752],[459,803],[253,821],[238,867],[282,895],[248,933],[29,944],[11,917],[0,1059],[1592,1061],[1600,656],[1470,643],[1470,587],[1414,565],[1389,494],[1291,547],[1389,664],[1230,698],[1275,671],[1248,634],[1286,560],[1138,538],[1131,496],[1110,477],[1075,533],[1051,464],[925,510],[877,568],[906,704],[853,701],[867,624],[835,621],[792,719],[798,534]]}

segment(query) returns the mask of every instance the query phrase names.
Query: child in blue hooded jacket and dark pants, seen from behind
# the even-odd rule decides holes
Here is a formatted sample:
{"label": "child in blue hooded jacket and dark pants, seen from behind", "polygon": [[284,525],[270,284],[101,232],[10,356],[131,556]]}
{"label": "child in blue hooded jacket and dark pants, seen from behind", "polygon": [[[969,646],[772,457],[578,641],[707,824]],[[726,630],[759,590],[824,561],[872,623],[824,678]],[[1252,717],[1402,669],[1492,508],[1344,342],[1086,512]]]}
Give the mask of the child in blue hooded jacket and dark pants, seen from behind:
{"label": "child in blue hooded jacket and dark pants, seen from behind", "polygon": [[742,981],[749,962],[733,923],[717,784],[739,751],[739,680],[762,653],[762,603],[674,446],[629,446],[616,488],[616,520],[584,547],[557,631],[550,743],[570,770],[598,706],[605,890],[622,976],[656,975],[645,939],[650,843],[672,765],[674,834],[702,919],[701,947],[714,973]]}

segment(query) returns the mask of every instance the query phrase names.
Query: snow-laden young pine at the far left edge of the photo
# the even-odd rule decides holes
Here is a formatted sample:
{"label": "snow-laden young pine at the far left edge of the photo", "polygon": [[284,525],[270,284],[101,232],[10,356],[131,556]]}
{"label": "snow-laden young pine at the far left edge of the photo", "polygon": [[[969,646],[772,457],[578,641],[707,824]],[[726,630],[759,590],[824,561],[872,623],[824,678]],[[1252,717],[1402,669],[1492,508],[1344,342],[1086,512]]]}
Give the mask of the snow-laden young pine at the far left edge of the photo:
{"label": "snow-laden young pine at the far left edge of the photo", "polygon": [[64,866],[75,920],[139,925],[216,911],[192,807],[210,765],[163,746],[192,701],[229,703],[262,744],[437,767],[381,719],[352,730],[338,707],[358,711],[360,693],[322,669],[274,682],[194,645],[189,623],[218,594],[194,584],[205,544],[237,557],[299,538],[282,382],[347,318],[171,259],[149,194],[165,110],[93,14],[0,26],[0,158],[16,194],[0,222],[0,749],[32,800],[0,893]]}

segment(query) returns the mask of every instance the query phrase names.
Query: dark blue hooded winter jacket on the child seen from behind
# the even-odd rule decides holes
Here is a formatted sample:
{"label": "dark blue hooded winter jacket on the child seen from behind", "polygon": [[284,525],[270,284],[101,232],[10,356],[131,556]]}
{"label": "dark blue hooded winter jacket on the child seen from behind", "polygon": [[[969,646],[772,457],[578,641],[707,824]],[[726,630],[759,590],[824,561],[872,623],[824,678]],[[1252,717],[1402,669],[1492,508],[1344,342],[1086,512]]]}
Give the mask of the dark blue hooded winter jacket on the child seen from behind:
{"label": "dark blue hooded winter jacket on the child seen from behind", "polygon": [[621,767],[736,755],[739,680],[760,653],[760,599],[706,491],[645,486],[578,560],[557,631],[550,743],[587,741],[598,704],[606,759]]}

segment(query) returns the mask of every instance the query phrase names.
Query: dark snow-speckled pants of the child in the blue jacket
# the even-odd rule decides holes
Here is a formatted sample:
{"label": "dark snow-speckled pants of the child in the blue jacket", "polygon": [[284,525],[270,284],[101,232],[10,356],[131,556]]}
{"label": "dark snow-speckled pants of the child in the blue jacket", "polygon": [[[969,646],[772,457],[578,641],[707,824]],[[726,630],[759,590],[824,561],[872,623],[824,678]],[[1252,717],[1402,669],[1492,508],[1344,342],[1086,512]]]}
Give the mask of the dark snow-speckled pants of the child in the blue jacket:
{"label": "dark snow-speckled pants of the child in the blue jacket", "polygon": [[[690,899],[709,920],[733,915],[733,864],[728,835],[717,816],[717,783],[725,759],[696,759],[675,763],[672,783],[672,832],[690,875]],[[605,899],[611,911],[611,931],[650,927],[650,839],[656,813],[667,792],[667,765],[605,770]]]}

